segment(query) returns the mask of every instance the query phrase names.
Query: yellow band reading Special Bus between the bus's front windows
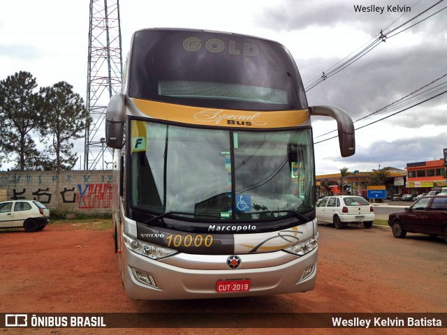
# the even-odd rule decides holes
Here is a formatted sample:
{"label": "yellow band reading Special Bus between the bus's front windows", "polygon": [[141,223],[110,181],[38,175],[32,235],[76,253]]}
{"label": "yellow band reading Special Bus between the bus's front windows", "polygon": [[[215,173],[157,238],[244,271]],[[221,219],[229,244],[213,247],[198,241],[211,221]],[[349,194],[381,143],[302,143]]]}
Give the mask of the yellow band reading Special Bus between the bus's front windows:
{"label": "yellow band reading Special Bus between the bus's front windows", "polygon": [[233,128],[288,128],[302,126],[309,121],[309,110],[253,112],[173,105],[140,99],[132,100],[135,107],[148,117],[183,124]]}

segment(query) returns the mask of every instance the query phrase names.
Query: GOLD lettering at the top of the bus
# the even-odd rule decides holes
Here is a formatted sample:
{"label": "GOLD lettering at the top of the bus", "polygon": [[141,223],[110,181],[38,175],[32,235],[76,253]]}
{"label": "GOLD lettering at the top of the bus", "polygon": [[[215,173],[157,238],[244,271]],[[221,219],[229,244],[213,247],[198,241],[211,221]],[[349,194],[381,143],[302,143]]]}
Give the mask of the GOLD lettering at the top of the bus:
{"label": "GOLD lettering at the top of the bus", "polygon": [[[202,48],[202,40],[196,37],[189,37],[183,41],[184,50],[187,51],[198,51]],[[205,42],[205,49],[209,52],[223,52],[226,49],[226,45],[223,40],[219,38],[210,38]],[[241,54],[241,50],[238,50],[235,40],[230,40],[228,42],[228,54]],[[257,56],[259,54],[259,49],[253,43],[245,42],[242,47],[242,54],[244,56]]]}

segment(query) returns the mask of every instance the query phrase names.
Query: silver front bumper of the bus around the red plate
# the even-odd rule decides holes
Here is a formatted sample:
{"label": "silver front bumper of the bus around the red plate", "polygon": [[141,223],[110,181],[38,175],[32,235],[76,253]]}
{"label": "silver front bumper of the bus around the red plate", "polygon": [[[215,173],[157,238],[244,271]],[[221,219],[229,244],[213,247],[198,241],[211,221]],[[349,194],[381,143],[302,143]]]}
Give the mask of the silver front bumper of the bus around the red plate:
{"label": "silver front bumper of the bus around the red plate", "polygon": [[[315,287],[317,253],[318,248],[301,257],[285,251],[240,255],[241,267],[230,269],[226,264],[230,255],[187,255],[188,262],[175,262],[174,255],[171,256],[174,262],[167,264],[169,258],[152,260],[126,249],[121,255],[122,279],[126,294],[132,299],[207,299],[306,292]],[[266,257],[265,266],[259,266]],[[226,268],[220,264],[212,267],[210,260],[220,260]],[[244,263],[258,265],[244,268]],[[204,264],[212,269],[206,269]],[[244,291],[217,292],[219,281],[249,281],[250,287]]]}

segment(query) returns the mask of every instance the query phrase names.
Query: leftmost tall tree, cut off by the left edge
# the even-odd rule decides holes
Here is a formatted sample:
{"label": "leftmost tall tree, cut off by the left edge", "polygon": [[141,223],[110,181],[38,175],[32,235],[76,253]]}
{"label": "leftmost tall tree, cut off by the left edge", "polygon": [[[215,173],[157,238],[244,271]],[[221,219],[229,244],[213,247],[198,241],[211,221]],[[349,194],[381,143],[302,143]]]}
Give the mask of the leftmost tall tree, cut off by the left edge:
{"label": "leftmost tall tree, cut off by the left edge", "polygon": [[0,81],[0,138],[3,158],[17,154],[15,169],[24,171],[36,151],[31,135],[42,125],[42,101],[36,78],[20,71]]}

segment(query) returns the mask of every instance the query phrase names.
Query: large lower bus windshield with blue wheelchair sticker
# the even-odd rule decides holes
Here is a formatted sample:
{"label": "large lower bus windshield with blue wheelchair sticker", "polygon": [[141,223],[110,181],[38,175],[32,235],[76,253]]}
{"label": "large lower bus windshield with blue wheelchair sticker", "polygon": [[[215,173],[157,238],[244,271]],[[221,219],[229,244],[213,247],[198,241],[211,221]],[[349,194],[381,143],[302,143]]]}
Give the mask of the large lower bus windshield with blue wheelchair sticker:
{"label": "large lower bus windshield with blue wheelchair sticker", "polygon": [[131,204],[149,214],[261,220],[314,206],[309,129],[233,131],[131,121]]}

